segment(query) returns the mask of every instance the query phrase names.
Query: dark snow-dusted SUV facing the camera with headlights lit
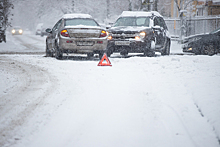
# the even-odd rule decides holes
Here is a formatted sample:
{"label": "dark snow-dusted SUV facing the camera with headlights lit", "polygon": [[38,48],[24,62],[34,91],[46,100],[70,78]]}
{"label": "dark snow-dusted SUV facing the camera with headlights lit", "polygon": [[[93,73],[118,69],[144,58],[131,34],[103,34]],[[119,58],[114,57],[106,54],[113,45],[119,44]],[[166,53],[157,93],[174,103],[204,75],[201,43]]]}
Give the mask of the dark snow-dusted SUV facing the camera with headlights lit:
{"label": "dark snow-dusted SUV facing the camera with headlights lit", "polygon": [[170,35],[163,17],[156,11],[124,11],[108,30],[107,55],[155,52],[170,54]]}

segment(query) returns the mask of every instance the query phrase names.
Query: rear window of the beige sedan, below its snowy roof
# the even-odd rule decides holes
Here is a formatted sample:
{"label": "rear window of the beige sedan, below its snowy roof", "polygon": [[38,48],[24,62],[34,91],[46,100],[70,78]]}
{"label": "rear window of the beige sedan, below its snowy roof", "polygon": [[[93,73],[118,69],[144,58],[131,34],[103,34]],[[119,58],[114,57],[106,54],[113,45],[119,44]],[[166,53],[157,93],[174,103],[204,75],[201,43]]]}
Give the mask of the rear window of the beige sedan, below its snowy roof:
{"label": "rear window of the beige sedan, below its snowy roof", "polygon": [[74,18],[74,19],[65,20],[65,26],[77,26],[77,25],[98,26],[97,22],[94,21],[93,19]]}

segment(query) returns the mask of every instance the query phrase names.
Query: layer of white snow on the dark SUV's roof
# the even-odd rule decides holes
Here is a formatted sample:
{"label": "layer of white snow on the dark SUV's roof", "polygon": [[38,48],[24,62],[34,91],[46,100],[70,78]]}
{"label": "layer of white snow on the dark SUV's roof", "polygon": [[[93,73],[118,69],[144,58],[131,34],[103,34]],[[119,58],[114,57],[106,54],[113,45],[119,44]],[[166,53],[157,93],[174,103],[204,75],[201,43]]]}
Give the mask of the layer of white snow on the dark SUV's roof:
{"label": "layer of white snow on the dark SUV's roof", "polygon": [[128,17],[128,16],[133,16],[133,17],[140,17],[140,16],[152,16],[152,14],[156,16],[162,17],[160,13],[157,11],[150,11],[150,12],[144,12],[144,11],[123,11],[120,17]]}

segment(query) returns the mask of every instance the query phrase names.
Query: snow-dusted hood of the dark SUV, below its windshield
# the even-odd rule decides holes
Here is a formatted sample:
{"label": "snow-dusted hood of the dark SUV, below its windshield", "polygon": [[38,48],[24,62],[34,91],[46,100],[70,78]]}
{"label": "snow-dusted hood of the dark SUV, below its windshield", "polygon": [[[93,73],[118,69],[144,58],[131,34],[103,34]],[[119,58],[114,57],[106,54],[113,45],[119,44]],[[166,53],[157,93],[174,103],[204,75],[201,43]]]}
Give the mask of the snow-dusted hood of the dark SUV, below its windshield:
{"label": "snow-dusted hood of the dark SUV, below its windshield", "polygon": [[121,26],[121,27],[112,27],[109,29],[109,32],[112,32],[112,33],[141,32],[146,29],[150,29],[150,28],[149,27],[138,27],[138,26]]}

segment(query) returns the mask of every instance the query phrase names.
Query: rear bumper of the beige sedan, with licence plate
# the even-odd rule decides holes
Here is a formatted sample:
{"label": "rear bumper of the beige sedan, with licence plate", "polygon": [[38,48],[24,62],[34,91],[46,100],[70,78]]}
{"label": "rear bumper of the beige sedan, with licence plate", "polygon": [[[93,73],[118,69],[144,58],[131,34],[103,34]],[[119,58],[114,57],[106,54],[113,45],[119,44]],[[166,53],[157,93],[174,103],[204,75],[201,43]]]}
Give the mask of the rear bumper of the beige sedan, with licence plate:
{"label": "rear bumper of the beige sedan, with licence plate", "polygon": [[69,53],[98,53],[107,49],[107,38],[60,38],[59,47]]}

